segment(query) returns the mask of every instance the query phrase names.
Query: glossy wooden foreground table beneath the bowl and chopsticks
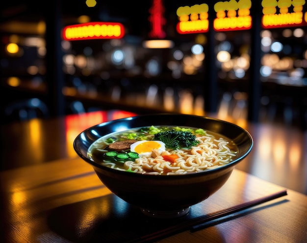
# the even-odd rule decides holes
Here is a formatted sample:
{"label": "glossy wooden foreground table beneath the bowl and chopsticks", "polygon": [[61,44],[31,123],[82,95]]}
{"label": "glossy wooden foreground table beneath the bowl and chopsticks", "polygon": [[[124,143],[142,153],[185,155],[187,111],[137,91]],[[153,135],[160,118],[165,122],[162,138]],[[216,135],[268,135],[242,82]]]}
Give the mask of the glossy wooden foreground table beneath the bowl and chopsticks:
{"label": "glossy wooden foreground table beneath the bowl and chopsticks", "polygon": [[[227,183],[182,219],[152,219],[118,198],[80,158],[0,172],[2,243],[123,243],[179,221],[284,188],[235,169]],[[307,196],[292,190],[231,220],[161,243],[306,243]]]}

